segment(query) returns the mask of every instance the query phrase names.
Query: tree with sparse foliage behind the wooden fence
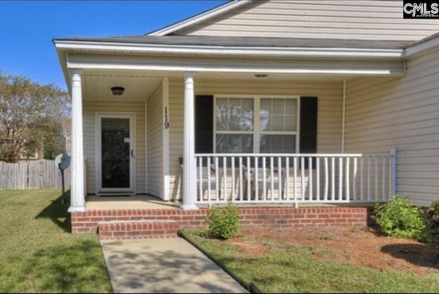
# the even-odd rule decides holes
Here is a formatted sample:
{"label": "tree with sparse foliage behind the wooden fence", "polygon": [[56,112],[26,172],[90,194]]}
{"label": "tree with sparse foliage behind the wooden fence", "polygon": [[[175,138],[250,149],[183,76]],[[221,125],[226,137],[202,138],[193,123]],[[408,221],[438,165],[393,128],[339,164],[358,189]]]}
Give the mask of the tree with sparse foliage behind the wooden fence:
{"label": "tree with sparse foliage behind the wooden fence", "polygon": [[43,152],[44,145],[50,146],[47,156],[52,158],[66,117],[69,96],[64,90],[0,72],[0,160],[17,162]]}

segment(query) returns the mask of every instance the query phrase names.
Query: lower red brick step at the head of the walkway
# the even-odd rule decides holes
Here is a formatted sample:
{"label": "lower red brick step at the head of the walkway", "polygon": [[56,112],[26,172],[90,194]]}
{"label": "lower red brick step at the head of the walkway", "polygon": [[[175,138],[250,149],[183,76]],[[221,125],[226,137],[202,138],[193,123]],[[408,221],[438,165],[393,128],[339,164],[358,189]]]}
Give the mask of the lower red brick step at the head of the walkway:
{"label": "lower red brick step at the head of the walkway", "polygon": [[101,240],[171,238],[177,236],[179,228],[180,223],[177,221],[102,221],[98,223]]}

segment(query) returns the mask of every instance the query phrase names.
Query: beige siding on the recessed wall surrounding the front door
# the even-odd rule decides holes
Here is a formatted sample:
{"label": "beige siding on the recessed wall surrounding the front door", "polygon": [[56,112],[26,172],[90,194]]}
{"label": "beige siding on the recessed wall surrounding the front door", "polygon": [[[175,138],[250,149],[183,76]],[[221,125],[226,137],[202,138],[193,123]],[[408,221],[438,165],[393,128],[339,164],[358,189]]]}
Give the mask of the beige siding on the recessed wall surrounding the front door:
{"label": "beige siding on the recessed wall surrounding the front door", "polygon": [[87,159],[87,193],[95,191],[95,112],[134,112],[136,130],[135,186],[137,194],[144,194],[145,174],[145,101],[83,101],[84,157]]}

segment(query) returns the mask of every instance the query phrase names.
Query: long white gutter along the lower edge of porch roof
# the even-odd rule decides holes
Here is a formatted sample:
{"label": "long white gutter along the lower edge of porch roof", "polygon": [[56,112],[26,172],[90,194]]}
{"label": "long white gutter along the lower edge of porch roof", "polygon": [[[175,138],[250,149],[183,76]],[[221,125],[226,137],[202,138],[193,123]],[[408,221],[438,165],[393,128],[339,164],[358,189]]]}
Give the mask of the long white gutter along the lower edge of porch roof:
{"label": "long white gutter along the lower edge of porch roof", "polygon": [[266,56],[287,58],[395,58],[403,56],[403,49],[315,48],[315,47],[221,47],[187,45],[151,45],[117,42],[83,42],[55,40],[57,49],[78,51],[106,51],[120,53],[190,54],[213,56]]}

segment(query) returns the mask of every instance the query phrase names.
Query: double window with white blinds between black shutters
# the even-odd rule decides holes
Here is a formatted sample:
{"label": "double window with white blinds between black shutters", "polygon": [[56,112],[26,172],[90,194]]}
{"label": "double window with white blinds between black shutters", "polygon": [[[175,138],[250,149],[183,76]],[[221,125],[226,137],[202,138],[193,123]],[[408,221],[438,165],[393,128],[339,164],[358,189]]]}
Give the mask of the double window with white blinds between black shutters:
{"label": "double window with white blinds between black shutters", "polygon": [[216,153],[295,153],[298,99],[216,97],[214,137]]}

